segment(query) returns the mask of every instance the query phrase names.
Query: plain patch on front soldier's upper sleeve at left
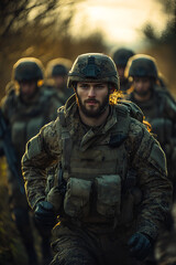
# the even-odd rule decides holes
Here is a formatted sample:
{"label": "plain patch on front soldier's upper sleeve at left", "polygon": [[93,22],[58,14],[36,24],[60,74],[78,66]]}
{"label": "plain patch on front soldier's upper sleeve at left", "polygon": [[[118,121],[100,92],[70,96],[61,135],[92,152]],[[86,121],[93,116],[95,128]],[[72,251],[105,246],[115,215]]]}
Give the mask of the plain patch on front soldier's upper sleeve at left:
{"label": "plain patch on front soldier's upper sleeve at left", "polygon": [[42,145],[40,141],[40,137],[35,136],[33,137],[28,144],[26,144],[26,151],[29,159],[32,159],[41,153],[42,151]]}

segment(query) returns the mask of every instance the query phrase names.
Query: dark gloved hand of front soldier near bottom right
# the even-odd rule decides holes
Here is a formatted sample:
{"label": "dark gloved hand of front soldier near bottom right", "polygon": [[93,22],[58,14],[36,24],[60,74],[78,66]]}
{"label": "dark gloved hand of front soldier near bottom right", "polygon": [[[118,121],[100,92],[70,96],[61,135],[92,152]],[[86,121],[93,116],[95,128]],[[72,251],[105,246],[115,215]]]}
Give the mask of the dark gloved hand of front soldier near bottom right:
{"label": "dark gloved hand of front soldier near bottom right", "polygon": [[152,248],[150,239],[142,233],[133,234],[129,240],[128,245],[131,255],[139,261],[143,261],[150,254]]}

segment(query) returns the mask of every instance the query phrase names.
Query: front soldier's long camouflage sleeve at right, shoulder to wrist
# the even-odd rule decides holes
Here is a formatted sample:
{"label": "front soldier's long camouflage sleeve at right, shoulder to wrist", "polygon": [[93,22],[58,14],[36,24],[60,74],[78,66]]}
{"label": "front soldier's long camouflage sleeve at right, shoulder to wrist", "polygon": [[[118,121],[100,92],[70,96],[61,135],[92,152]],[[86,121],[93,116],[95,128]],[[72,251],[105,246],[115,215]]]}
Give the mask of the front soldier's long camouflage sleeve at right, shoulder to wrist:
{"label": "front soldier's long camouflage sleeve at right, shoulder to wrist", "polygon": [[132,166],[136,169],[138,186],[142,191],[138,231],[156,239],[172,204],[165,155],[142,124],[132,121],[131,136]]}

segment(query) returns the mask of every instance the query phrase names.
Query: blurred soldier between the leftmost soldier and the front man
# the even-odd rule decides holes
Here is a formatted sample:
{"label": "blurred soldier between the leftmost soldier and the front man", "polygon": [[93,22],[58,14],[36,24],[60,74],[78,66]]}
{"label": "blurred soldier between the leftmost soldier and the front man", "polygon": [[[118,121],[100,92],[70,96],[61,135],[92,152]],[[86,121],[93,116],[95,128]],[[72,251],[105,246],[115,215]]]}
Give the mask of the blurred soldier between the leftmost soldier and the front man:
{"label": "blurred soldier between the leftmost soldier and the front man", "polygon": [[[47,84],[56,89],[57,96],[62,100],[63,105],[66,103],[68,97],[73,95],[73,91],[67,89],[67,77],[70,67],[70,60],[63,57],[54,59],[46,65],[45,75]],[[52,87],[48,88],[51,89]]]}

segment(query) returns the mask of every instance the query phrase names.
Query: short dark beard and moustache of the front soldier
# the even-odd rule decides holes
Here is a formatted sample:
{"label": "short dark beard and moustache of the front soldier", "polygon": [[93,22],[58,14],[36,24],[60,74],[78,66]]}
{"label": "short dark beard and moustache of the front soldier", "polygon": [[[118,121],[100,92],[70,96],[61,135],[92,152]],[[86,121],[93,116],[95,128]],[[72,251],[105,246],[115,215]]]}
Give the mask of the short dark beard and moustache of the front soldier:
{"label": "short dark beard and moustache of the front soldier", "polygon": [[[100,104],[99,100],[96,100],[96,99],[87,99],[85,100],[85,103],[82,103],[82,100],[80,99],[80,97],[78,96],[78,94],[76,94],[77,96],[77,103],[78,103],[78,106],[80,108],[80,110],[85,114],[85,116],[89,117],[89,118],[97,118],[99,116],[102,115],[102,113],[107,109],[107,107],[109,106],[109,94],[103,98],[102,103]],[[97,104],[99,104],[99,107],[97,107],[95,109],[95,107],[90,106],[90,108],[88,109],[86,107],[86,103],[87,102],[95,102]]]}

